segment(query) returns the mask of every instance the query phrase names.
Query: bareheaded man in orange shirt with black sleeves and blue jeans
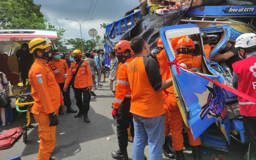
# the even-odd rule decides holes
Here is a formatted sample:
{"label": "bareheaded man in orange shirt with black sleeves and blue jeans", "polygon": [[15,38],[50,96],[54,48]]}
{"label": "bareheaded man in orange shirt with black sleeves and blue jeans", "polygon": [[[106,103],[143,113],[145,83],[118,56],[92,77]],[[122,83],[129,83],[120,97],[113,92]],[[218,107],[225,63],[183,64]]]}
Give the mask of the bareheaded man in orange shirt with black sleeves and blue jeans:
{"label": "bareheaded man in orange shirt with black sleeves and blue jeans", "polygon": [[134,123],[132,158],[143,159],[148,139],[149,159],[159,160],[163,158],[165,122],[162,91],[172,86],[172,79],[162,81],[159,66],[147,57],[149,46],[141,36],[132,38],[131,48],[136,55],[127,69]]}

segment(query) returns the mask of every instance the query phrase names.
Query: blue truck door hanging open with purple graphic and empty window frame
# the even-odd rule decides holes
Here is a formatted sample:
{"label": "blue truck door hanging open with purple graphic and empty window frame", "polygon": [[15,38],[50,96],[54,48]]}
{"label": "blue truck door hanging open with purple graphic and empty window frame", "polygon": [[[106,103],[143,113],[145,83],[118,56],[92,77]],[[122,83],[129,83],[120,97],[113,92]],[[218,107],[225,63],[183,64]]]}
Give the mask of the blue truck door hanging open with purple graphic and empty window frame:
{"label": "blue truck door hanging open with purple graphic and empty window frame", "polygon": [[[207,69],[202,36],[197,25],[184,24],[162,27],[160,29],[160,36],[167,59],[170,62],[175,60],[175,53],[173,52],[170,38],[180,36],[197,37],[198,49],[196,52],[203,57],[201,71],[203,73],[200,74],[219,82],[218,76],[214,76]],[[223,124],[224,117],[222,117],[221,112],[225,108],[225,100],[222,88],[180,67],[180,74],[178,74],[175,65],[172,65],[170,69],[173,78],[173,88],[182,118],[185,124],[191,128],[194,139],[198,138],[212,123],[220,122]],[[225,129],[228,131],[228,136],[225,136],[229,137],[230,129],[228,130],[227,127]]]}

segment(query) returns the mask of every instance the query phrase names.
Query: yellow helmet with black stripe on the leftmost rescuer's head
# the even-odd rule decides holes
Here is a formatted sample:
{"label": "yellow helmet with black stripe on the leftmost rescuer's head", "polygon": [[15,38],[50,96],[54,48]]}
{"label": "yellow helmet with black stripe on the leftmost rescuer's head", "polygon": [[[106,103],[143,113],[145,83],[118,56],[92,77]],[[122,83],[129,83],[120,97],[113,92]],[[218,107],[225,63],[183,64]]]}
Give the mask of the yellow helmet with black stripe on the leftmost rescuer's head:
{"label": "yellow helmet with black stripe on the leftmost rescuer's head", "polygon": [[35,49],[40,48],[40,49],[44,49],[51,46],[51,40],[49,40],[47,37],[45,38],[34,38],[29,42],[29,52],[33,53],[35,51]]}

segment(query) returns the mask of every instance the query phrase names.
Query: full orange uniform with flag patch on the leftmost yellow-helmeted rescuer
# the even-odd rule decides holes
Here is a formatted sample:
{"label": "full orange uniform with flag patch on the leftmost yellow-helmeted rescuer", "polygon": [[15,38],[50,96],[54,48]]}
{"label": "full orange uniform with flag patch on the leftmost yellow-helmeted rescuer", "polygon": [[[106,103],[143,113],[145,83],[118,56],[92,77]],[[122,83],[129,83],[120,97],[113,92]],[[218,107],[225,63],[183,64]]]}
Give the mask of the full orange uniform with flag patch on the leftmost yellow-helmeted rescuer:
{"label": "full orange uniform with flag patch on the leftmost yellow-helmeted rescuer", "polygon": [[49,160],[55,147],[56,126],[50,125],[49,113],[58,114],[61,101],[59,84],[54,73],[43,61],[36,59],[28,73],[34,105],[31,113],[38,123],[40,139],[37,160]]}

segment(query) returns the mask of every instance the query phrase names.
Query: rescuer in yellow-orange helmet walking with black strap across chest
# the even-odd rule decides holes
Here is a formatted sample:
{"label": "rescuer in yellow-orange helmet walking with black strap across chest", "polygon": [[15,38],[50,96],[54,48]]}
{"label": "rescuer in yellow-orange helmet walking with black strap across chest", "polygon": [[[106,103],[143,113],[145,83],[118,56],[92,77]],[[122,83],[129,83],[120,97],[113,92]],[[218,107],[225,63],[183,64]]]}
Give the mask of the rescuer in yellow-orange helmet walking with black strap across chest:
{"label": "rescuer in yellow-orange helmet walking with black strap across chest", "polygon": [[[87,61],[82,60],[82,52],[80,50],[73,51],[73,62],[69,68],[68,76],[66,78],[63,90],[66,92],[67,87],[72,78],[74,78],[74,91],[76,95],[76,105],[79,108],[79,112],[76,117],[84,115],[84,122],[90,123],[88,118],[88,111],[90,108],[91,91],[92,91],[92,73],[90,64]],[[78,69],[78,70],[77,70]],[[82,100],[83,94],[83,100]]]}

